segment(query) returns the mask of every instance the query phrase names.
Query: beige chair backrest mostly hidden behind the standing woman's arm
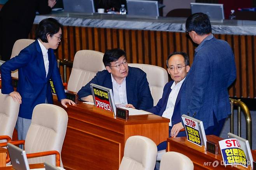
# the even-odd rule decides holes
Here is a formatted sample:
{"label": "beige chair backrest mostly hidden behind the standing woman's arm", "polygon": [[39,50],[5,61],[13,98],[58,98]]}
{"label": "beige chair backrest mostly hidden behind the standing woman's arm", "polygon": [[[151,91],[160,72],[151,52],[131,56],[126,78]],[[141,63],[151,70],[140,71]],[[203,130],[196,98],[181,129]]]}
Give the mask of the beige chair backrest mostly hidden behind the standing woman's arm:
{"label": "beige chair backrest mostly hidden behind the standing woman's arm", "polygon": [[[28,45],[30,45],[32,42],[34,42],[35,40],[31,40],[31,39],[19,39],[17,40],[13,47],[12,47],[12,55],[11,58],[18,56],[19,52],[23,49],[25,49],[25,47],[28,47]],[[12,77],[18,78],[18,69],[15,71],[12,71]]]}

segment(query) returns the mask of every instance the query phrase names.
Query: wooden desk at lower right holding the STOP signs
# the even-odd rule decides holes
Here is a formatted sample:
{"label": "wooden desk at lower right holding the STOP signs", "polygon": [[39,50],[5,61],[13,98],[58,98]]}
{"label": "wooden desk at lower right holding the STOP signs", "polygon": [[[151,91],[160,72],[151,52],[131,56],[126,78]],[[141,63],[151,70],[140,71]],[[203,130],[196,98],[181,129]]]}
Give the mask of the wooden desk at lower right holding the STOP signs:
{"label": "wooden desk at lower right holding the STOP signs", "polygon": [[[214,135],[207,135],[207,141],[217,143],[218,141],[223,140],[220,137]],[[191,161],[193,161],[195,170],[249,170],[249,168],[244,168],[240,165],[237,167],[231,167],[231,165],[221,165],[222,156],[219,151],[219,154],[215,155],[209,152],[206,152],[202,147],[196,146],[193,143],[187,141],[186,137],[175,137],[167,139],[167,151],[175,151],[182,153],[188,156]],[[252,151],[253,159],[256,159],[255,151]],[[217,161],[219,164],[217,167],[213,167],[212,163]],[[208,165],[206,164],[208,163]],[[205,164],[205,165],[204,165]],[[216,165],[216,164],[215,164]]]}

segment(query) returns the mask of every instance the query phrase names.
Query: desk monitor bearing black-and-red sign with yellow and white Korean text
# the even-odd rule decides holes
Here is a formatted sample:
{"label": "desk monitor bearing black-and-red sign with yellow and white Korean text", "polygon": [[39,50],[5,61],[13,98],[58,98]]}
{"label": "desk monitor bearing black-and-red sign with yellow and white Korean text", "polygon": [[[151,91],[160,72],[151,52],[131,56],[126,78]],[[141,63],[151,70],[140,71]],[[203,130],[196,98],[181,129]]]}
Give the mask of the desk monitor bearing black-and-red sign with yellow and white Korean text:
{"label": "desk monitor bearing black-and-red sign with yellow and white Korean text", "polygon": [[114,112],[116,116],[116,105],[112,89],[91,83],[91,94],[97,108]]}

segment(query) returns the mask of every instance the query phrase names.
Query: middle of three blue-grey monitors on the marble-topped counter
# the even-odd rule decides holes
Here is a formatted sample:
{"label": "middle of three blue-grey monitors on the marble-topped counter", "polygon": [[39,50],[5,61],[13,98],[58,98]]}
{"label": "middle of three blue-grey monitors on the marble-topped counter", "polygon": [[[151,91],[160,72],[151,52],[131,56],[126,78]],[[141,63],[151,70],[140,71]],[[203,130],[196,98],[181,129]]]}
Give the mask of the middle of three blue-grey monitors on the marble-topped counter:
{"label": "middle of three blue-grey monitors on the marble-topped counter", "polygon": [[159,16],[158,1],[126,0],[127,14],[135,16]]}

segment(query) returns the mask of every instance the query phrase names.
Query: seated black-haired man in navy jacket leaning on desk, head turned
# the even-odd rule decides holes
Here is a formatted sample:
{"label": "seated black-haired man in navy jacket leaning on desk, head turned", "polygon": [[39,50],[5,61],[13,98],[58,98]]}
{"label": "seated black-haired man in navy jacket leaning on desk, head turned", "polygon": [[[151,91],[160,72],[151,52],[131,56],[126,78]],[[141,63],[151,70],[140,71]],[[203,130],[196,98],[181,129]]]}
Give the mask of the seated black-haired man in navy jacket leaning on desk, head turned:
{"label": "seated black-haired man in navy jacket leaning on desk, head turned", "polygon": [[153,107],[146,73],[139,68],[129,67],[126,54],[121,49],[107,50],[103,56],[106,70],[99,71],[87,85],[77,93],[79,99],[93,102],[90,84],[94,83],[113,90],[116,104],[146,110]]}

